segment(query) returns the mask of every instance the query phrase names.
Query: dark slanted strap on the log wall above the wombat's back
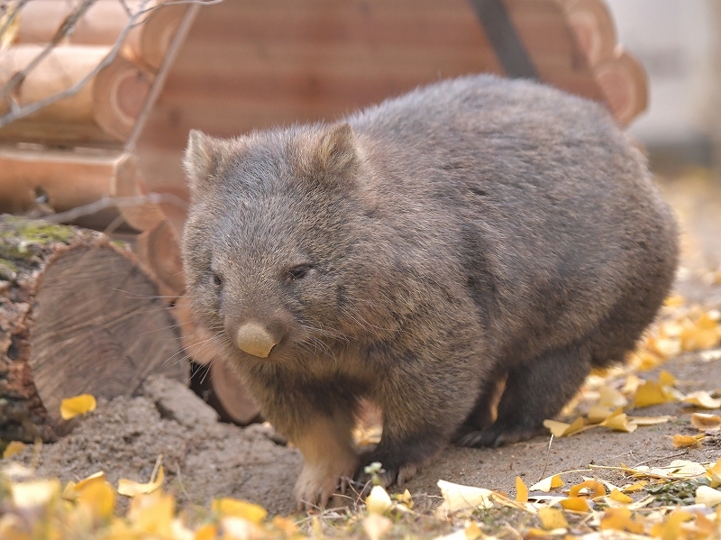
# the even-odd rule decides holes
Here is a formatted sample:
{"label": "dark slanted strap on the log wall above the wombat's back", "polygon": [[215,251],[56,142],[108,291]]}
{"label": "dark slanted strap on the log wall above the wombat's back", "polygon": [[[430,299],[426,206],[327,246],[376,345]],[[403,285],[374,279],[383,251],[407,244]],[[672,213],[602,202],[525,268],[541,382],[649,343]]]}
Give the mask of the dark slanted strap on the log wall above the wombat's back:
{"label": "dark slanted strap on the log wall above the wombat's back", "polygon": [[496,50],[506,75],[510,78],[538,78],[531,61],[516,32],[516,27],[502,0],[470,0],[488,41]]}

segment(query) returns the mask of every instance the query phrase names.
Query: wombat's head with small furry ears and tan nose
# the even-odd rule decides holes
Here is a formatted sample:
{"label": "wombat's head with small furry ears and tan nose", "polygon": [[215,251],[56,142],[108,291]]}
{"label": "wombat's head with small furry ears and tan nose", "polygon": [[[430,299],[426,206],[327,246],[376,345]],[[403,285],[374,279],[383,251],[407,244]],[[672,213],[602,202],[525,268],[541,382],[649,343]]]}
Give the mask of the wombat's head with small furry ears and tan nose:
{"label": "wombat's head with small furry ears and tan nose", "polygon": [[[342,338],[362,213],[348,124],[222,140],[191,132],[183,242],[199,322],[249,358],[290,358]],[[247,360],[247,359],[246,359]]]}

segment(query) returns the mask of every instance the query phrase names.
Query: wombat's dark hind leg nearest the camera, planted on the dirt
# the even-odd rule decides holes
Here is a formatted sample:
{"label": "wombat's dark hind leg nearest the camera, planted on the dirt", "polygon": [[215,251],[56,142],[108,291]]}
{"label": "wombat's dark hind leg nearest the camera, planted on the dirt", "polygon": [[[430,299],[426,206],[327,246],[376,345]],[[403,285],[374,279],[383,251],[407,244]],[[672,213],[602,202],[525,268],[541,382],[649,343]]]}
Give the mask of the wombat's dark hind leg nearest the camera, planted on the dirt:
{"label": "wombat's dark hind leg nearest the camera, planted on the dirt", "polygon": [[544,433],[543,420],[556,416],[578,391],[591,368],[587,343],[572,344],[508,372],[496,421],[488,429],[461,436],[461,446],[500,446]]}

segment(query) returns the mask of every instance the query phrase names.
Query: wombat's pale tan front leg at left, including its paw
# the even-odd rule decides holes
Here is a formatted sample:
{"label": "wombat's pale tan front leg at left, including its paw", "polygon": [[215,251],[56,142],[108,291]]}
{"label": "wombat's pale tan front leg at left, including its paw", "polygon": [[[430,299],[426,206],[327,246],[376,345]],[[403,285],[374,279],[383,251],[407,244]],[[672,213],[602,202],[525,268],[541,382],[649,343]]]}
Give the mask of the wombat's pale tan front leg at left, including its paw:
{"label": "wombat's pale tan front leg at left, including its paw", "polygon": [[353,450],[350,412],[333,416],[316,414],[306,426],[292,435],[292,442],[303,454],[303,471],[296,482],[298,509],[325,506],[337,490],[344,492],[347,481],[358,468],[358,455]]}

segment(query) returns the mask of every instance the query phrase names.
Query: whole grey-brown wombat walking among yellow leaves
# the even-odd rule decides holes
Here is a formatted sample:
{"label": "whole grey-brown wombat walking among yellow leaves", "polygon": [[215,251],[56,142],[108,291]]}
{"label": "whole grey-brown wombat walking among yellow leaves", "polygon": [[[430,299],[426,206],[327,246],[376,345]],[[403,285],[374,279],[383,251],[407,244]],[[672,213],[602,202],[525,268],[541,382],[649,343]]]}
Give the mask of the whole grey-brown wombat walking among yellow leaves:
{"label": "whole grey-brown wombat walking among yellow leaves", "polygon": [[[309,504],[369,462],[402,483],[449,440],[536,434],[634,348],[676,267],[640,152],[601,106],[531,82],[458,78],[338,124],[194,132],[186,167],[196,316],[303,453]],[[360,397],[383,435],[358,457]]]}

